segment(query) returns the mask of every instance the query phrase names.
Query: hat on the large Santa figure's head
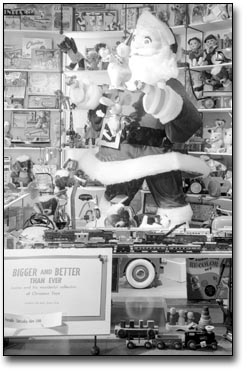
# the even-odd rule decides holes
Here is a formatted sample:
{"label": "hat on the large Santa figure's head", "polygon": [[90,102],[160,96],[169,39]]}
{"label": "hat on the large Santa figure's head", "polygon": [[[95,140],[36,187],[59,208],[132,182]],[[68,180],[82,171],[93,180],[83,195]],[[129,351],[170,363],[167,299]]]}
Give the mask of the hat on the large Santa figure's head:
{"label": "hat on the large Santa figure's head", "polygon": [[159,20],[149,11],[145,10],[138,18],[136,30],[146,29],[149,33],[153,33],[160,38],[162,46],[175,44],[175,37],[173,32],[166,23]]}

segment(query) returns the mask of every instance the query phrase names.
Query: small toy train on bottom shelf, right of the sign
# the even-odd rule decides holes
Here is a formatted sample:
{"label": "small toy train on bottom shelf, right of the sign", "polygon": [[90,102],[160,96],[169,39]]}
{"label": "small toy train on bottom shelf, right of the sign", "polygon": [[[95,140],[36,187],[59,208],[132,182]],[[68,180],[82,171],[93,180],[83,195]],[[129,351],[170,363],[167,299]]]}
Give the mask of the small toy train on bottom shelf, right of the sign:
{"label": "small toy train on bottom shelf, right of the sign", "polygon": [[186,348],[196,350],[198,348],[211,348],[217,350],[217,341],[213,326],[206,326],[204,329],[195,328],[184,333],[168,334],[160,333],[158,326],[154,325],[153,320],[148,320],[144,325],[143,320],[135,325],[133,320],[127,325],[124,320],[115,326],[115,335],[118,338],[125,339],[127,348],[132,349],[136,346],[143,346],[146,349],[172,348],[180,350]]}

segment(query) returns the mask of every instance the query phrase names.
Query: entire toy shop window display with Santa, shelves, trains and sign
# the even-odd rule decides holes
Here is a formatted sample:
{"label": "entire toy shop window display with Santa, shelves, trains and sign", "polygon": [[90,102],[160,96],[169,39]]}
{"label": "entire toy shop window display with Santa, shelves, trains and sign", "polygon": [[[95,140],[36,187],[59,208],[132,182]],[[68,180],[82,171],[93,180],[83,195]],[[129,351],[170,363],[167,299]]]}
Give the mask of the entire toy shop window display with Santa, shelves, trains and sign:
{"label": "entire toy shop window display with Santa, shelves, trains and sign", "polygon": [[231,27],[231,4],[4,4],[5,354],[232,355]]}

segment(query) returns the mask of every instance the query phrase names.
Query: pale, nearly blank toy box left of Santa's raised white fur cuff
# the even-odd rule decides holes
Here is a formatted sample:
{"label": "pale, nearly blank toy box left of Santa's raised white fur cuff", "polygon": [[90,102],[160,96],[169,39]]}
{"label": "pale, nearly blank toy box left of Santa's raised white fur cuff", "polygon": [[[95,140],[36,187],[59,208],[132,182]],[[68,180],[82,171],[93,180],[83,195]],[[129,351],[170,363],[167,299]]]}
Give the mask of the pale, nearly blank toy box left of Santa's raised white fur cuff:
{"label": "pale, nearly blank toy box left of Santa's raised white fur cuff", "polygon": [[60,89],[59,73],[29,73],[28,94],[53,96],[58,89]]}

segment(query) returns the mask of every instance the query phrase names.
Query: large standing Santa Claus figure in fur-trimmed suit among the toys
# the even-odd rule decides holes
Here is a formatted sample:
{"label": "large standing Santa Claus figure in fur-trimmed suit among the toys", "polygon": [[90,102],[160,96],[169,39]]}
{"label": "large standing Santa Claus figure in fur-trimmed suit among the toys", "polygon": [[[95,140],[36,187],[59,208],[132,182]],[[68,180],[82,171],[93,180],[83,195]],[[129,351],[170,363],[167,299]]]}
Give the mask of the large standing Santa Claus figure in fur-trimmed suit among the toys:
{"label": "large standing Santa Claus figure in fur-trimmed suit among the toys", "polygon": [[107,186],[107,200],[125,194],[128,198],[124,204],[129,205],[146,180],[158,207],[157,226],[169,229],[192,217],[181,171],[209,173],[201,159],[175,150],[202,125],[197,109],[177,80],[176,51],[169,27],[149,11],[142,13],[128,61],[131,78],[127,87],[132,104],[122,120],[125,117],[129,124],[121,129],[119,146],[101,146],[98,153],[89,153],[80,161],[91,178]]}

